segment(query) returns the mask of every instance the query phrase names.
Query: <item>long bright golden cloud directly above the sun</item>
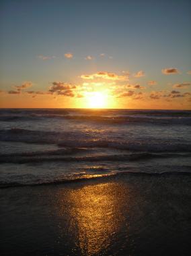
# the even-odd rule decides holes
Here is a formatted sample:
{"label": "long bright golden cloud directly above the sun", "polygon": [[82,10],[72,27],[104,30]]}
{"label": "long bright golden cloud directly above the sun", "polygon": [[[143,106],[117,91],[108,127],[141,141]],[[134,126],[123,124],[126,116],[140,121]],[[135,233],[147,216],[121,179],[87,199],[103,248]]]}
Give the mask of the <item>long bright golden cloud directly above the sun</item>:
{"label": "long bright golden cloud directly above the sun", "polygon": [[83,74],[80,76],[83,79],[102,78],[107,80],[128,80],[126,76],[118,76],[118,74],[110,72],[98,72],[94,74]]}

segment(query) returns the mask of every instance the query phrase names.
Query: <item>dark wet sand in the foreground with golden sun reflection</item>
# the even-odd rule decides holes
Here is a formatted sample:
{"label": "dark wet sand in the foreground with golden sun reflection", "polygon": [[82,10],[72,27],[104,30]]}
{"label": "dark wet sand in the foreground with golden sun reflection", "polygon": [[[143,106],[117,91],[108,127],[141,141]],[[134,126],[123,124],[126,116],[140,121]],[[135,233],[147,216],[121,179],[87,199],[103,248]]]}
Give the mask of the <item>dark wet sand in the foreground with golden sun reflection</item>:
{"label": "dark wet sand in the foreground with golden sun reflection", "polygon": [[1,188],[1,255],[190,255],[191,175]]}

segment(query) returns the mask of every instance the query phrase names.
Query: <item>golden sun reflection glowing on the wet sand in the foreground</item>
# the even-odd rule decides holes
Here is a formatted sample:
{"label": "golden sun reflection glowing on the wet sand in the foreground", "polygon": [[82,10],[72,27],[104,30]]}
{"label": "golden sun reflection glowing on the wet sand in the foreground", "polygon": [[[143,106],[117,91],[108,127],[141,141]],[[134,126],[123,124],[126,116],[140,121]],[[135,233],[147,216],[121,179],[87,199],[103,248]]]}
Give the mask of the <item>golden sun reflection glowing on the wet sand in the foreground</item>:
{"label": "golden sun reflection glowing on the wet sand in the foreground", "polygon": [[99,255],[112,245],[112,236],[116,236],[124,221],[118,201],[120,193],[120,185],[110,182],[91,184],[59,195],[67,196],[67,201],[71,202],[69,209],[61,207],[60,215],[67,211],[70,216],[68,231],[75,237],[82,255]]}

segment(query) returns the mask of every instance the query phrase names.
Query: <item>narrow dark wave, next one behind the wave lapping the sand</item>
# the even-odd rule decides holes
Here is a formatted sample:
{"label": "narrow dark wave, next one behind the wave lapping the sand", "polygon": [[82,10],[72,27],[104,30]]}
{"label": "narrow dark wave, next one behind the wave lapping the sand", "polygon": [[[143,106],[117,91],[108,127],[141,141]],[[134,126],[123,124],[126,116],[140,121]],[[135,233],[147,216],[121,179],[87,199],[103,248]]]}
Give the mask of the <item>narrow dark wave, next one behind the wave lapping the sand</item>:
{"label": "narrow dark wave, next one behind the wave lapping the sand", "polygon": [[[81,149],[76,149],[81,150]],[[152,158],[169,158],[169,157],[190,157],[190,153],[176,154],[176,153],[129,153],[124,155],[89,155],[89,156],[63,156],[70,151],[56,151],[43,152],[43,153],[22,153],[22,155],[0,155],[0,163],[42,163],[50,161],[62,161],[62,162],[124,162],[124,161],[140,161]],[[50,154],[51,153],[51,154]],[[52,155],[53,153],[53,155]]]}

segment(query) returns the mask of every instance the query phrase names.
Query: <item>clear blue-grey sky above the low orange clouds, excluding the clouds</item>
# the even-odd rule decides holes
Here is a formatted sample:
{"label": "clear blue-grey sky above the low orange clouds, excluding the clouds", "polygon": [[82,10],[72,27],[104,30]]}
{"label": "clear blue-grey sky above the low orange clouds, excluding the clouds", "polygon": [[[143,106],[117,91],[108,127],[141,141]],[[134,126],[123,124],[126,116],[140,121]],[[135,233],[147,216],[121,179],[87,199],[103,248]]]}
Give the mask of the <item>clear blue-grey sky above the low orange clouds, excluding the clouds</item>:
{"label": "clear blue-grey sky above the low orange clouds, excluding the clouds", "polygon": [[[190,81],[190,1],[4,0],[0,5],[4,90],[26,80],[46,90],[52,81],[76,83],[81,74],[99,71],[143,70],[142,84],[157,80],[161,89]],[[181,75],[164,76],[163,68],[177,68]]]}

